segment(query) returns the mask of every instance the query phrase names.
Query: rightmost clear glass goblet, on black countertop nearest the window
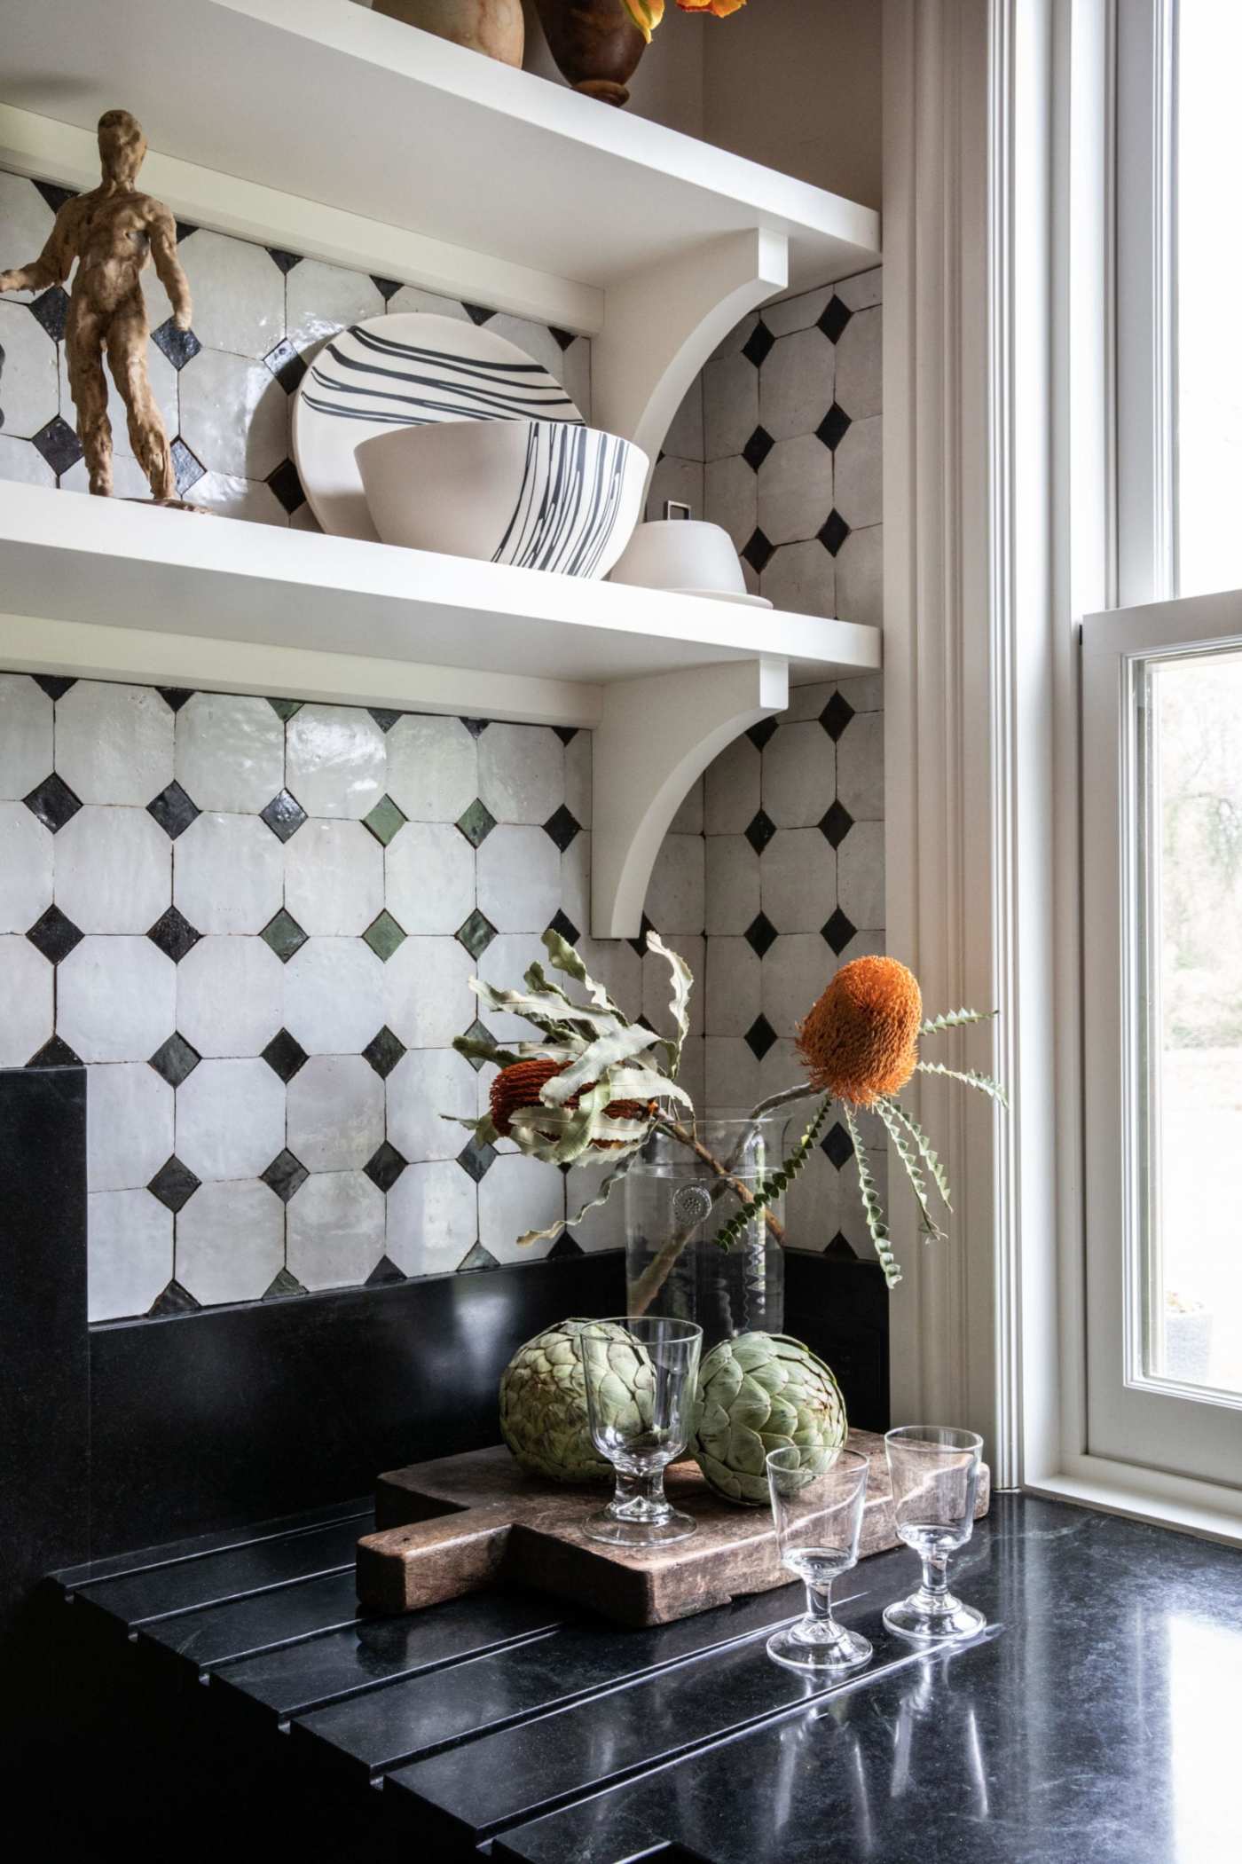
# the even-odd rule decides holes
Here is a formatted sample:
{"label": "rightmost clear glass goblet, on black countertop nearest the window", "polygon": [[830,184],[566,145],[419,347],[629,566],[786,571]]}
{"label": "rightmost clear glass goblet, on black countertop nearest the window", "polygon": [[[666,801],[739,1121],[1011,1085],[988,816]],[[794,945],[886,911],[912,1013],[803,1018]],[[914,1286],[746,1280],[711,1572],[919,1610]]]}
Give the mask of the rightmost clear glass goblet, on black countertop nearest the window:
{"label": "rightmost clear glass goblet, on black countertop nearest the window", "polygon": [[921,1644],[973,1637],[987,1620],[949,1592],[949,1555],[975,1530],[983,1437],[947,1424],[903,1424],[884,1437],[897,1538],[923,1562],[923,1583],[884,1612],[884,1624]]}

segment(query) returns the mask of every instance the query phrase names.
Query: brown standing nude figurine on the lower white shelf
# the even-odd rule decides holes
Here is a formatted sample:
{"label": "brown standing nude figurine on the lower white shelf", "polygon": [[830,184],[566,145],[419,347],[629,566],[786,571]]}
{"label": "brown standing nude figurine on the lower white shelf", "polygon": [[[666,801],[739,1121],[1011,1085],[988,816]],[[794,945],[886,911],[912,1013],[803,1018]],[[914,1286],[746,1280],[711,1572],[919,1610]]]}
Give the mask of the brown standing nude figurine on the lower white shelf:
{"label": "brown standing nude figurine on the lower white shelf", "polygon": [[32,265],[0,272],[0,291],[43,291],[62,285],[73,261],[65,356],[69,391],[78,410],[78,440],[86,453],[91,492],[112,492],[112,425],[103,354],[129,418],[129,444],[157,500],[177,500],[164,418],[147,378],[147,308],[140,272],[155,261],[172,298],[177,330],[190,328],[190,285],[177,259],[177,226],[162,201],[138,194],[134,181],[147,153],[142,123],[129,110],[99,119],[103,181],[78,194],[56,214],[52,237]]}

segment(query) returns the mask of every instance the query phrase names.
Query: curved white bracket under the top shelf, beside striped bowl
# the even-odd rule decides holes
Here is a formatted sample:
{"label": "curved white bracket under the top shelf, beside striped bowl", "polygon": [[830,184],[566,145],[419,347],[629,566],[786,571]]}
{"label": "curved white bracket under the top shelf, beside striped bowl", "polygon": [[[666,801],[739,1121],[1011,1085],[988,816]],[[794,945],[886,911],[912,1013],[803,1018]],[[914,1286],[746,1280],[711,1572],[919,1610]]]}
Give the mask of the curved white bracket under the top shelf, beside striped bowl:
{"label": "curved white bracket under the top shelf, beside striped bowl", "polygon": [[591,418],[634,440],[655,472],[696,375],[746,311],[789,281],[789,240],[748,227],[608,285],[591,343]]}

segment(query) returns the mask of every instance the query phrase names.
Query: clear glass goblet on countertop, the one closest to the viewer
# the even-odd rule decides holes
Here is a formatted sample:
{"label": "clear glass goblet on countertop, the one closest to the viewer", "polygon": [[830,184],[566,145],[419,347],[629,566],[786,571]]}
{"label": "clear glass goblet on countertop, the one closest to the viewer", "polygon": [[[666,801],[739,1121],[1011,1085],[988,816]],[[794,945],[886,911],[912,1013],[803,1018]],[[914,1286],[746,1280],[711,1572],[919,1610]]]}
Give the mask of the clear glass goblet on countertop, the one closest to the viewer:
{"label": "clear glass goblet on countertop, the one closest to the viewer", "polygon": [[867,1499],[867,1458],[832,1450],[826,1463],[802,1467],[802,1450],[768,1450],[768,1495],[781,1566],[806,1586],[806,1618],[774,1631],[768,1657],[813,1676],[845,1676],[871,1663],[871,1644],[832,1616],[832,1583],[858,1564],[858,1534]]}

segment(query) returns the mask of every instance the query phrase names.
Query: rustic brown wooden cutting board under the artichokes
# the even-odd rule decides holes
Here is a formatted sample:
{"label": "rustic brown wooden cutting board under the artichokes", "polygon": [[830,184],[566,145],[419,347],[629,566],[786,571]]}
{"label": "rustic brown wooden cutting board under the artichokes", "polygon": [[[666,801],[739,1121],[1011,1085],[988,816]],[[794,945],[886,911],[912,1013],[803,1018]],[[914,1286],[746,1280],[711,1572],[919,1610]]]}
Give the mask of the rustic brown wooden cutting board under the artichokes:
{"label": "rustic brown wooden cutting board under the artichokes", "polygon": [[[850,1432],[871,1460],[860,1556],[897,1545],[884,1437]],[[379,1478],[379,1530],[358,1542],[358,1597],[380,1612],[410,1612],[507,1581],[587,1605],[625,1625],[660,1625],[746,1592],[787,1586],[766,1508],[742,1508],[677,1463],[669,1501],[699,1523],[690,1540],[634,1553],[587,1540],[582,1523],[606,1489],[558,1487],[524,1476],[504,1446],[412,1463]],[[988,1469],[975,1515],[988,1510]]]}

